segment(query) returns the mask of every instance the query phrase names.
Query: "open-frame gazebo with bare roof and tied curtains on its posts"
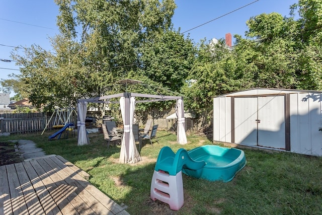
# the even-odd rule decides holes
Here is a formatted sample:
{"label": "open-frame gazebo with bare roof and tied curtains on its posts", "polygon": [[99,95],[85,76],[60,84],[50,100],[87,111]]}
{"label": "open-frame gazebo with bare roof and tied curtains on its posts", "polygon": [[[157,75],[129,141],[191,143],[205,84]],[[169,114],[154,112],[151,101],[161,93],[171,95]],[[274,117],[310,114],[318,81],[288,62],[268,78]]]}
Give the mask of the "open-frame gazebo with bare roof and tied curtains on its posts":
{"label": "open-frame gazebo with bare roof and tied curtains on its posts", "polygon": [[[135,80],[125,80],[126,83],[140,83]],[[119,101],[111,101],[113,98],[120,98]],[[136,100],[140,98],[141,100]],[[134,117],[135,104],[141,102],[156,102],[156,101],[168,101],[177,100],[176,113],[178,117],[177,128],[177,142],[179,144],[187,144],[187,137],[185,132],[185,116],[184,116],[184,104],[183,97],[181,96],[164,96],[164,95],[151,95],[140,93],[119,93],[108,96],[95,97],[90,99],[79,99],[77,101],[77,130],[78,130],[78,146],[90,144],[88,134],[85,128],[85,118],[87,113],[88,103],[119,103],[122,113],[124,135],[121,145],[120,163],[136,163],[141,159],[134,141],[132,124]]]}

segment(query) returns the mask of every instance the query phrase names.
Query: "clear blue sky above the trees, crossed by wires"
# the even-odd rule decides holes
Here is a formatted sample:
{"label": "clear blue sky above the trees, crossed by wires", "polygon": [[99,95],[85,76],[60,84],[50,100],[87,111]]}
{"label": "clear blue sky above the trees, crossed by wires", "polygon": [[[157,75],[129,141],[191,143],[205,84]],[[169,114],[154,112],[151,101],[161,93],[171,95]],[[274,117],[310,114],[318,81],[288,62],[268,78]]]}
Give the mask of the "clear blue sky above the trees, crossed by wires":
{"label": "clear blue sky above the trees, crossed by wires", "polygon": [[[255,0],[176,0],[173,16],[175,29],[185,32],[220,17]],[[288,16],[289,6],[297,0],[259,0],[243,9],[185,33],[196,43],[200,39],[224,38],[226,33],[245,35],[250,17],[277,12]],[[53,0],[0,0],[0,59],[10,60],[13,47],[37,44],[50,50],[49,37],[58,34],[56,16],[58,7]],[[19,54],[23,54],[22,49]],[[10,69],[9,69],[10,68]],[[0,79],[19,74],[15,62],[0,61]],[[13,95],[11,95],[13,96]]]}

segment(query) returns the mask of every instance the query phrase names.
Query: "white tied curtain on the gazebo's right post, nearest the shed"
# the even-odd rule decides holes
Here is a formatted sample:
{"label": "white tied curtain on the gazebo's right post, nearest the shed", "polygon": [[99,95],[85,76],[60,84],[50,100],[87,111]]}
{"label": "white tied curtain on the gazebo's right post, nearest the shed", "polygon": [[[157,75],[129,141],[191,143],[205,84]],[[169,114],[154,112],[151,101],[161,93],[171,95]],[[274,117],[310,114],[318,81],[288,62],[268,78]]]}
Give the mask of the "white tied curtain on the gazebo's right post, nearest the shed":
{"label": "white tied curtain on the gazebo's right post, nearest the shed", "polygon": [[177,142],[178,144],[187,144],[187,136],[185,131],[185,117],[184,117],[185,113],[184,113],[182,99],[177,100],[176,113],[178,116]]}

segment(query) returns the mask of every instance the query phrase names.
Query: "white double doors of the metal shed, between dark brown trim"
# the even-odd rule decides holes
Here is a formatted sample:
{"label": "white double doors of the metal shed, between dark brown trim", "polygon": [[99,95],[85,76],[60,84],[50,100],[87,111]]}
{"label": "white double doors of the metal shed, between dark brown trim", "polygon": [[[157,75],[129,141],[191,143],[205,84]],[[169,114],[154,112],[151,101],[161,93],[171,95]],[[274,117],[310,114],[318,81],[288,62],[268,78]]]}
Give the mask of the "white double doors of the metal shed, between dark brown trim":
{"label": "white double doors of the metal shed, between dark brown trim", "polygon": [[234,99],[235,142],[285,149],[284,95]]}

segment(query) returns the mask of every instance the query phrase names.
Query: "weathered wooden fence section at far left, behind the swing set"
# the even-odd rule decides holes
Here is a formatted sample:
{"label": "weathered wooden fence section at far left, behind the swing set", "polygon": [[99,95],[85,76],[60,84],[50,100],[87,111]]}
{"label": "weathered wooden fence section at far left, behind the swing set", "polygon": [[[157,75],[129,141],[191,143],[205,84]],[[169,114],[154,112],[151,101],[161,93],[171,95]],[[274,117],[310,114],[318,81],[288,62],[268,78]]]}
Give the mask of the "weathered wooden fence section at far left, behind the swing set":
{"label": "weathered wooden fence section at far left, behind the swing set", "polygon": [[46,113],[0,114],[1,133],[27,133],[43,130],[47,123]]}

